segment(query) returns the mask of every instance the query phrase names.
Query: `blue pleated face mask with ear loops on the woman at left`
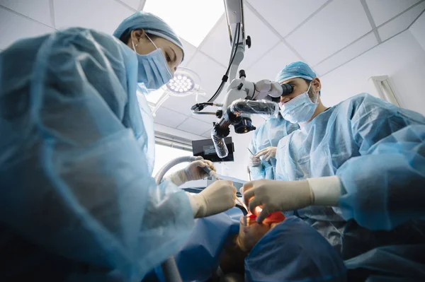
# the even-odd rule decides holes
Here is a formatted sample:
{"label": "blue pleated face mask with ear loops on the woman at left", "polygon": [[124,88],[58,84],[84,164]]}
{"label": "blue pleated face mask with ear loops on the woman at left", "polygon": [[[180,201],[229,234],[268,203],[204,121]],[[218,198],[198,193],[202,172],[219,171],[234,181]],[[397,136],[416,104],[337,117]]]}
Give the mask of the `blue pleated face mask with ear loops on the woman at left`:
{"label": "blue pleated face mask with ear loops on the woman at left", "polygon": [[150,52],[146,55],[138,54],[136,51],[136,46],[133,41],[132,47],[137,54],[137,60],[139,61],[138,65],[138,74],[137,82],[145,84],[145,87],[150,90],[157,90],[164,86],[165,83],[169,82],[173,75],[166,64],[166,59],[162,50],[155,45],[155,43],[147,36],[150,42],[154,45],[156,50]]}

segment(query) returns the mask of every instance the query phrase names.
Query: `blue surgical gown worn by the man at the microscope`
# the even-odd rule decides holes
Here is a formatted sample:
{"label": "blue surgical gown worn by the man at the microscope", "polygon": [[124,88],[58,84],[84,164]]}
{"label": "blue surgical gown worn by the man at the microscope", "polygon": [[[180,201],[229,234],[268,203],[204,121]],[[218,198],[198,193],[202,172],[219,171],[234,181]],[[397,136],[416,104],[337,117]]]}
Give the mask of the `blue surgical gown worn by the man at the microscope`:
{"label": "blue surgical gown worn by the man at the microscope", "polygon": [[[286,214],[310,223],[344,259],[376,247],[425,242],[421,114],[356,95],[280,140],[276,158],[278,180],[339,176],[339,208],[310,206]],[[419,257],[424,263],[424,254]],[[378,264],[371,269],[379,269]]]}

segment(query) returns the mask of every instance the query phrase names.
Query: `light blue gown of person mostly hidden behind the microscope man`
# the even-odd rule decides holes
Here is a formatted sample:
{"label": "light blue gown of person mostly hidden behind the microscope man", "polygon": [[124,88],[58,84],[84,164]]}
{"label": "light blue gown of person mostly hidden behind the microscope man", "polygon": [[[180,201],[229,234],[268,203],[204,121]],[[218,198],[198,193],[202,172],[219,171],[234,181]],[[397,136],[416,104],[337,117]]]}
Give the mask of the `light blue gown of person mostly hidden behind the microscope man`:
{"label": "light blue gown of person mostly hidden behind the microscope man", "polygon": [[[249,150],[256,154],[263,148],[278,146],[279,140],[291,132],[299,129],[298,124],[291,124],[279,114],[278,117],[266,119],[260,127],[254,131]],[[258,167],[250,167],[252,180],[274,180],[276,175],[276,158],[261,160]]]}

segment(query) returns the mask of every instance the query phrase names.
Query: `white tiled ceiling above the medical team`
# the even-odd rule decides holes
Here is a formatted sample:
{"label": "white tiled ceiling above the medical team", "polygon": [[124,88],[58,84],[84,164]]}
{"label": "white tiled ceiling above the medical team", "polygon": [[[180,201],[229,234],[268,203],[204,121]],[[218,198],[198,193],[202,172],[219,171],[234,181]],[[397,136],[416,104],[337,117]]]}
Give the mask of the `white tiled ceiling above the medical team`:
{"label": "white tiled ceiling above the medical team", "polygon": [[[145,0],[0,0],[0,49],[19,38],[69,26],[111,34],[144,4]],[[273,80],[283,66],[297,60],[310,64],[319,76],[328,74],[409,28],[425,10],[425,0],[245,0],[244,8],[252,47],[246,49],[241,69],[248,80],[258,81]],[[225,16],[198,47],[184,38],[183,45],[183,66],[200,76],[208,95],[199,101],[205,101],[215,92],[229,60]],[[194,103],[194,96],[171,97],[157,111],[155,122],[208,137],[215,119],[192,116]]]}

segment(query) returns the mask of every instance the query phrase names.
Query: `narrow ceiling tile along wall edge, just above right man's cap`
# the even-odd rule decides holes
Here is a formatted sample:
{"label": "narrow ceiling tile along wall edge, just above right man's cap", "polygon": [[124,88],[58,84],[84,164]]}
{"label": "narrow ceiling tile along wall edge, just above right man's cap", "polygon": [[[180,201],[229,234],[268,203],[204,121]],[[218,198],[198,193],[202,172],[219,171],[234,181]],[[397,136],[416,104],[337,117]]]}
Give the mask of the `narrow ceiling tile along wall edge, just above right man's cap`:
{"label": "narrow ceiling tile along wall edge, just above right man's cap", "polygon": [[347,61],[376,45],[378,45],[378,40],[376,40],[375,34],[369,33],[365,37],[361,38],[361,40],[354,42],[352,45],[346,47],[346,49],[343,49],[341,52],[334,54],[329,59],[326,59],[317,66],[314,66],[314,70],[320,75],[326,74],[328,71],[345,64]]}

